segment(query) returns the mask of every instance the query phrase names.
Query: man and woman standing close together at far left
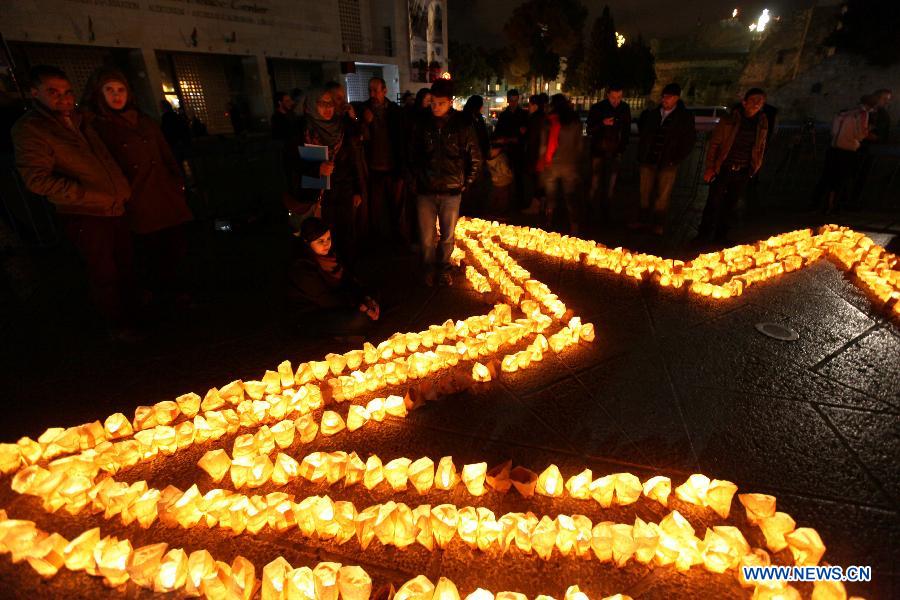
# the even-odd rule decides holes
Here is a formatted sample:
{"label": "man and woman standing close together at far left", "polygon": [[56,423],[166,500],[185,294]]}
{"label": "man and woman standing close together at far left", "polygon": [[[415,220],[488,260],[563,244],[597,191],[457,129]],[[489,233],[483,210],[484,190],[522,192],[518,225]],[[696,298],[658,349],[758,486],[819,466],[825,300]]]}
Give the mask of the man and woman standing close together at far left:
{"label": "man and woman standing close together at far left", "polygon": [[191,302],[180,273],[193,219],[182,168],[120,71],[98,69],[78,109],[56,67],[32,69],[30,86],[32,107],[12,129],[16,167],[56,206],[110,336],[136,341],[142,306]]}

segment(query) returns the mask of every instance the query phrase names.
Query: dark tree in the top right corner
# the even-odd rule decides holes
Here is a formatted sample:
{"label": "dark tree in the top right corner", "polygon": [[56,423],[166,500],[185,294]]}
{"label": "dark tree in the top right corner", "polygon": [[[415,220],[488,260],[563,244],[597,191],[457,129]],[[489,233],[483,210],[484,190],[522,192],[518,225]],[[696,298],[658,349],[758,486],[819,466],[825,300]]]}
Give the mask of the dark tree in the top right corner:
{"label": "dark tree in the top right corner", "polygon": [[849,0],[826,43],[860,54],[869,64],[900,62],[900,10],[896,0]]}

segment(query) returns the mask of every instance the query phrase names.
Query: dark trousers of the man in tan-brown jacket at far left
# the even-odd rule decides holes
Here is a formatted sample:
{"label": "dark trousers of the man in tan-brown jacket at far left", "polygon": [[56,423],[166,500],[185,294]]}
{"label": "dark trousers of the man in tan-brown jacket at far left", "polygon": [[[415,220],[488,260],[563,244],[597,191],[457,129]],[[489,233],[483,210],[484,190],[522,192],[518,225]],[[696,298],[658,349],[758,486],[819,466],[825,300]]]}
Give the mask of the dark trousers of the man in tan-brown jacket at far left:
{"label": "dark trousers of the man in tan-brown jacket at far left", "polygon": [[127,219],[63,215],[62,222],[84,260],[94,306],[108,325],[127,325],[135,304],[134,251]]}

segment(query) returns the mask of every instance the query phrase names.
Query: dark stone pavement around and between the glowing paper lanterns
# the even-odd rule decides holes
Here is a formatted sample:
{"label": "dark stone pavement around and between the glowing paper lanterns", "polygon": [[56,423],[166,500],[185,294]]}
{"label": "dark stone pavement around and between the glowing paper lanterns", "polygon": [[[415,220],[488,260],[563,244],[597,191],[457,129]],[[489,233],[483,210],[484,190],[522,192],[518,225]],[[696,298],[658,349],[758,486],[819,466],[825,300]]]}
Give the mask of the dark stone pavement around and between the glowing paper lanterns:
{"label": "dark stone pavement around and between the glowing paper lanterns", "polygon": [[[858,214],[848,219],[857,222],[842,224],[873,231],[879,243],[895,244],[893,236],[900,235],[890,218]],[[759,239],[786,231],[792,226],[788,221],[754,224],[742,235]],[[604,235],[612,234],[601,232],[600,238]],[[116,411],[129,414],[139,404],[187,391],[203,394],[237,377],[257,378],[285,358],[297,364],[349,349],[330,340],[304,339],[283,320],[280,257],[286,242],[280,231],[261,227],[230,237],[198,236],[205,236],[195,256],[203,308],[189,317],[162,320],[155,334],[134,348],[112,348],[92,335],[83,319],[74,263],[44,258],[55,265],[56,278],[38,284],[27,303],[14,304],[8,314],[15,318],[5,324],[0,389],[8,412],[0,422],[0,441]],[[636,237],[622,245],[652,250],[654,243]],[[548,354],[540,367],[504,376],[486,390],[428,404],[404,422],[350,434],[345,438],[350,443],[340,449],[386,459],[436,460],[452,454],[457,464],[512,458],[535,471],[555,463],[564,474],[590,467],[595,474],[631,471],[681,481],[702,472],[734,481],[742,492],[777,496],[779,510],[819,531],[831,564],[872,565],[873,582],[848,585],[850,592],[868,598],[900,594],[900,328],[886,322],[845,276],[823,261],[750,288],[740,298],[713,301],[527,252],[517,257],[576,314],[595,324],[596,341],[558,357]],[[364,261],[361,274],[377,277],[396,304],[376,339],[485,312],[484,299],[462,278],[449,290],[415,286],[413,265],[411,257]],[[754,329],[762,321],[792,327],[800,339],[763,337]],[[328,441],[316,445],[329,449]],[[163,487],[197,480],[199,455],[194,454],[179,457],[165,472],[151,463],[129,477],[146,477]],[[307,493],[323,493],[307,486]],[[353,496],[362,496],[362,502],[382,500],[365,490]],[[550,515],[585,510],[566,501],[523,503],[512,496],[491,508]],[[405,501],[420,502],[414,494]],[[435,503],[442,501],[453,500]],[[11,498],[8,481],[0,481],[4,505],[11,505],[11,516],[27,515],[64,534],[96,521],[44,514],[28,498]],[[743,512],[735,506],[733,512]],[[645,520],[658,521],[664,514],[643,505],[585,514],[595,522],[627,522],[635,510]],[[695,526],[703,522],[697,519],[692,519]],[[490,584],[495,591],[539,589],[556,597],[576,582],[591,598],[616,592],[641,598],[746,595],[723,581],[727,577],[696,570],[682,575],[576,559],[498,559],[464,546],[433,553],[385,548],[373,555],[360,552],[355,542],[333,547],[274,534],[252,539],[202,530],[161,534],[156,526],[134,533],[113,522],[97,523],[104,534],[133,535],[136,546],[161,539],[186,549],[206,543],[217,558],[241,553],[257,568],[279,553],[294,565],[335,559],[361,564],[380,581],[395,584],[425,573],[432,580],[446,575],[461,588]],[[0,596],[71,597],[70,585],[80,586],[84,597],[105,592],[97,580],[83,576],[40,582],[25,565],[0,558]],[[808,587],[803,589],[808,593]]]}

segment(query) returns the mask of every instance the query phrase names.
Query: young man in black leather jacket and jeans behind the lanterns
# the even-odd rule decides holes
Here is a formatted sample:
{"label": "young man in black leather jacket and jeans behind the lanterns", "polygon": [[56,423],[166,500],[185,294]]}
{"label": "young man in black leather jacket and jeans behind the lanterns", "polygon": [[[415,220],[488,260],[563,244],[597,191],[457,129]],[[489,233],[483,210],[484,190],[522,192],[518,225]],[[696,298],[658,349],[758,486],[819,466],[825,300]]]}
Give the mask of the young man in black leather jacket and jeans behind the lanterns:
{"label": "young man in black leather jacket and jeans behind the lanterns", "polygon": [[[431,87],[431,114],[415,125],[409,153],[409,177],[416,194],[419,235],[425,284],[453,285],[450,254],[455,242],[456,221],[462,194],[472,185],[482,167],[481,150],[471,119],[453,109],[449,81]],[[440,224],[440,253],[436,254],[435,220]]]}

